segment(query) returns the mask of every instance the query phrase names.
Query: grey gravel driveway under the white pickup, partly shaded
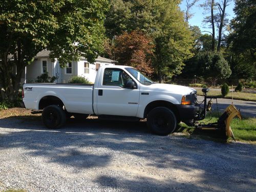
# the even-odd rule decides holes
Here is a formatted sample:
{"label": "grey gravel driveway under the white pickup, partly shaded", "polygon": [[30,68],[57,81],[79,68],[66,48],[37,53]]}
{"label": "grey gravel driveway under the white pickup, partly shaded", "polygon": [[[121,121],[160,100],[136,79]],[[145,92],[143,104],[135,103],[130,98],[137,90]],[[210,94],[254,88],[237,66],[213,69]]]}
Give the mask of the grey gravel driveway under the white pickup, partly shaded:
{"label": "grey gravel driveway under the white pickup, partly shaded", "polygon": [[256,146],[155,136],[145,122],[0,119],[0,191],[255,191]]}

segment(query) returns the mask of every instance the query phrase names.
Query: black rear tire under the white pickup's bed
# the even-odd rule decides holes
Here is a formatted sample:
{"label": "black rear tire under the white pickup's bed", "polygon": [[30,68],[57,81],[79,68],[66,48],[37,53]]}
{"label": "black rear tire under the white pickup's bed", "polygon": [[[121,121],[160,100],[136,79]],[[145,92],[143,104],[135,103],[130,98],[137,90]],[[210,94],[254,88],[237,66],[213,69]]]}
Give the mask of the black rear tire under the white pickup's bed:
{"label": "black rear tire under the white pickup's bed", "polygon": [[49,105],[42,111],[42,122],[49,129],[59,129],[66,122],[66,113],[58,105]]}

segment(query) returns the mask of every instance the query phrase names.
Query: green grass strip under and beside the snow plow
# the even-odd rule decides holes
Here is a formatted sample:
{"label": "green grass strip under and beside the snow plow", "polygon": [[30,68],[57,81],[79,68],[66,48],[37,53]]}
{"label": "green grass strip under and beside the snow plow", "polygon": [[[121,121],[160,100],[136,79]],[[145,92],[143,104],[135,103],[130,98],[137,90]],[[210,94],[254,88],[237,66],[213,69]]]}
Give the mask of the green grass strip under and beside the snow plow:
{"label": "green grass strip under and beside the snow plow", "polygon": [[[217,115],[214,115],[212,119],[206,117],[201,122],[207,124],[209,122],[217,121],[218,117]],[[230,123],[230,127],[237,141],[256,143],[256,118],[244,118],[242,120],[234,118]],[[179,124],[178,132],[185,133],[189,137],[201,137],[204,139],[221,141],[218,139],[216,131],[198,131],[195,130],[194,127],[189,127],[184,123]],[[232,138],[229,138],[228,140],[232,140]]]}

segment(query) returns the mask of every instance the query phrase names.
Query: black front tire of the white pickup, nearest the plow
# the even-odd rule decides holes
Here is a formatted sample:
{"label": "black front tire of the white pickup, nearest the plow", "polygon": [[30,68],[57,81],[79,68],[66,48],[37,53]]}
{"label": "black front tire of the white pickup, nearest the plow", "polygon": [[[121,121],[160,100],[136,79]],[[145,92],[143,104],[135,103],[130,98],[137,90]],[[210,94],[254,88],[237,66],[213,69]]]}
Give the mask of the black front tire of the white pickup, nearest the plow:
{"label": "black front tire of the white pickup, nearest the plow", "polygon": [[168,135],[175,131],[177,119],[170,109],[160,106],[148,113],[146,123],[153,133]]}

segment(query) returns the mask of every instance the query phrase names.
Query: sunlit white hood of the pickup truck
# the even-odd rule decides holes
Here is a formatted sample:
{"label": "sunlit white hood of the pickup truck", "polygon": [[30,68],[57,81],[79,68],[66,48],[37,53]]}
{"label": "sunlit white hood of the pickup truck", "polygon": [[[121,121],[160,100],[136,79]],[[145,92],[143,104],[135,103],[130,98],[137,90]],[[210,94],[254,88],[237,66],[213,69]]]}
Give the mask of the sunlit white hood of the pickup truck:
{"label": "sunlit white hood of the pickup truck", "polygon": [[193,88],[185,87],[185,86],[177,86],[176,84],[163,84],[163,83],[154,83],[150,86],[154,91],[160,92],[168,92],[180,95],[189,95],[191,92],[196,91]]}

